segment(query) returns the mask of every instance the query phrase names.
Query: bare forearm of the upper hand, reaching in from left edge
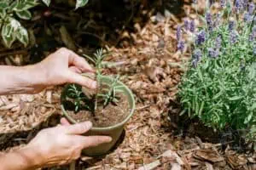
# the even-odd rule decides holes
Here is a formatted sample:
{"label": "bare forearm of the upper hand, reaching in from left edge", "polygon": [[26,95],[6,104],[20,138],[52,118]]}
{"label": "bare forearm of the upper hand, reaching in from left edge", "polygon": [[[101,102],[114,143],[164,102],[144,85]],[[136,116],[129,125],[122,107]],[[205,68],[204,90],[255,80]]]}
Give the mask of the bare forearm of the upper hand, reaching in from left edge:
{"label": "bare forearm of the upper hand, reaching in from left edge", "polygon": [[42,82],[41,73],[34,67],[0,65],[0,95],[34,93],[33,87]]}

